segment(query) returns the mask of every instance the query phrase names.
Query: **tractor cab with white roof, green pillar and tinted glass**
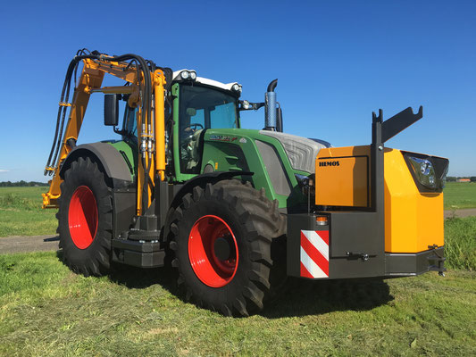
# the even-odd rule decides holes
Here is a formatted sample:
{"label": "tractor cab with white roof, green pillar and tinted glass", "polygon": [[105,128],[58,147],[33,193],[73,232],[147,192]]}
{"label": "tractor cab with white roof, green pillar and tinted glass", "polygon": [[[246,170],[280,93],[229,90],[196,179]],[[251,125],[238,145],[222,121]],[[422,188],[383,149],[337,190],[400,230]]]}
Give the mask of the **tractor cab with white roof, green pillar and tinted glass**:
{"label": "tractor cab with white roof, green pillar and tinted glass", "polygon": [[[173,72],[171,110],[166,123],[167,161],[176,162],[174,176],[188,179],[200,173],[207,129],[239,129],[237,82],[224,84],[197,77],[195,71]],[[168,108],[165,109],[168,112]],[[167,117],[166,117],[167,120]]]}

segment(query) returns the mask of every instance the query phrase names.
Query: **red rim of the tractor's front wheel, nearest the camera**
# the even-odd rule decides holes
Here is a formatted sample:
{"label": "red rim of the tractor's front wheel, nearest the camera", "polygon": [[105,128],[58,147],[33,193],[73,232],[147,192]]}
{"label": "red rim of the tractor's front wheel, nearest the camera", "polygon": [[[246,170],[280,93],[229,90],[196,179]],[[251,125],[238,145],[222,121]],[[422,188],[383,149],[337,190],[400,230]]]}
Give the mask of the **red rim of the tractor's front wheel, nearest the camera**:
{"label": "red rim of the tractor's front wheel, nearest the camera", "polygon": [[[215,253],[215,241],[223,238],[230,254],[220,259]],[[207,286],[225,286],[238,268],[238,245],[230,226],[220,217],[206,215],[195,224],[188,237],[188,259],[196,277]]]}

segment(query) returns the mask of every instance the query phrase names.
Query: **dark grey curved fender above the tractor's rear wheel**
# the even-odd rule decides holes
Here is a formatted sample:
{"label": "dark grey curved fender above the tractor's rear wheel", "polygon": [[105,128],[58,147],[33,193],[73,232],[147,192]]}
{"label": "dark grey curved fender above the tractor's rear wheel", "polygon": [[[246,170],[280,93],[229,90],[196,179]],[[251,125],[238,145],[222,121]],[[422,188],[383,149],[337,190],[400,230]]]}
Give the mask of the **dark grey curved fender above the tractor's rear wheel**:
{"label": "dark grey curved fender above the tractor's rear wheel", "polygon": [[71,150],[60,170],[62,179],[64,179],[64,172],[70,168],[71,162],[79,157],[89,157],[93,162],[96,162],[99,165],[99,170],[104,172],[113,188],[127,187],[133,183],[129,166],[122,155],[113,145],[101,142],[78,145]]}

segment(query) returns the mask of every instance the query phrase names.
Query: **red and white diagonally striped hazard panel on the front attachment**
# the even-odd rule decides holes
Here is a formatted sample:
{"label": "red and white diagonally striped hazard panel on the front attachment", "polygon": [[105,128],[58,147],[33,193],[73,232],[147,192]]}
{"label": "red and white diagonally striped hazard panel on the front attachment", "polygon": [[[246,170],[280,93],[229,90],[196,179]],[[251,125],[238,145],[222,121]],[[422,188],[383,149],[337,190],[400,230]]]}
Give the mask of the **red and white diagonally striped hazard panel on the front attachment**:
{"label": "red and white diagonally striped hazard panel on the front attachment", "polygon": [[329,230],[301,230],[301,277],[329,278]]}

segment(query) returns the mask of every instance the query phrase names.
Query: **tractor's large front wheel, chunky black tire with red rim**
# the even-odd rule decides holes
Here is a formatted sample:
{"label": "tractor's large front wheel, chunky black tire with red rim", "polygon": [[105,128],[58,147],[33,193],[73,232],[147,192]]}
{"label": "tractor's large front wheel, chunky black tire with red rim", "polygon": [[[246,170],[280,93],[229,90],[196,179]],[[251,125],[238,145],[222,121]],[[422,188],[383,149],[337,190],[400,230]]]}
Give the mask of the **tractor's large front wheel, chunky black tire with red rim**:
{"label": "tractor's large front wheel, chunky black tire with red rim", "polygon": [[[227,281],[224,286],[212,286],[214,282],[210,284],[199,278],[200,270],[196,270],[196,264],[192,267],[192,261],[200,261],[194,261],[193,248],[188,253],[189,239],[192,228],[205,227],[200,226],[205,224],[204,220],[210,220],[208,224],[212,225],[223,226],[224,223],[230,228],[228,237],[234,239],[229,239],[230,250],[234,250],[233,246],[238,248],[233,275],[221,275]],[[195,187],[192,194],[183,197],[171,222],[173,238],[170,247],[175,253],[172,266],[179,270],[178,283],[185,290],[187,300],[226,316],[248,316],[261,311],[263,302],[275,291],[275,286],[283,285],[286,279],[282,262],[277,266],[271,258],[273,241],[278,242],[285,232],[286,221],[278,211],[278,202],[271,203],[263,189],[256,191],[249,183],[245,185],[237,179],[209,183],[205,189]],[[212,251],[215,256],[218,255],[215,254],[216,246],[213,245]],[[232,257],[233,253],[227,256]],[[232,261],[230,258],[227,262]],[[211,266],[213,262],[216,262],[215,258],[210,259]]]}

